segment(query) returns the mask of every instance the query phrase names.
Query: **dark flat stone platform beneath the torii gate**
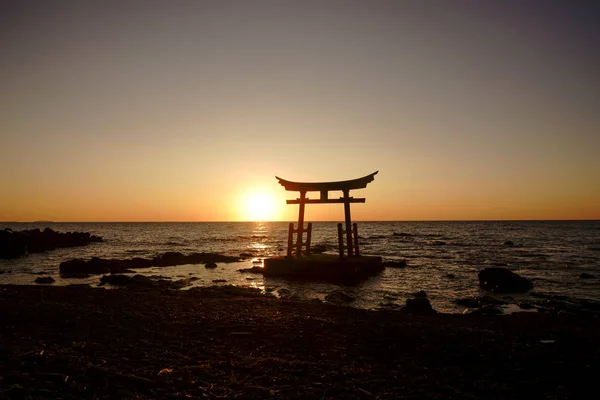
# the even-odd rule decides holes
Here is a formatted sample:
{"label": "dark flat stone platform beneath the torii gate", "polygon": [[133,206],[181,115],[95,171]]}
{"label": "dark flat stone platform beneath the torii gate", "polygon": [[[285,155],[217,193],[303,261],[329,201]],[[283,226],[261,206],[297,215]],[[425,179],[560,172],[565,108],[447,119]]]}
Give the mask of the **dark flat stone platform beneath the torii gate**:
{"label": "dark flat stone platform beneath the torii gate", "polygon": [[271,257],[264,261],[264,276],[356,285],[384,270],[381,257],[313,254]]}

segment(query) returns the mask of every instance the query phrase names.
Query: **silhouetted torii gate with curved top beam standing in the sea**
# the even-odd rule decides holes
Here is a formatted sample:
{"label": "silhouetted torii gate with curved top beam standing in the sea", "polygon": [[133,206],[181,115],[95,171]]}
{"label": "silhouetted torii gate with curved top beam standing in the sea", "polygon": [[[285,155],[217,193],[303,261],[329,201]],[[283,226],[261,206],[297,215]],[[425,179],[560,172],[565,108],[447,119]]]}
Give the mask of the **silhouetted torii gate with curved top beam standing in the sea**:
{"label": "silhouetted torii gate with curved top beam standing in the sea", "polygon": [[[301,257],[302,248],[306,247],[306,252],[310,252],[310,239],[312,233],[312,224],[308,224],[308,228],[304,229],[304,207],[306,204],[332,204],[332,203],[343,203],[344,204],[344,216],[346,222],[346,248],[348,249],[348,257],[358,256],[358,231],[356,224],[352,225],[352,219],[350,217],[350,203],[364,203],[365,198],[354,198],[350,197],[350,190],[364,189],[367,184],[375,179],[379,171],[375,171],[370,175],[363,176],[362,178],[352,179],[348,181],[338,182],[290,182],[279,177],[275,177],[279,180],[279,183],[287,191],[300,192],[300,197],[295,200],[286,200],[287,204],[298,204],[300,206],[298,212],[298,228],[294,229],[294,224],[291,222],[288,232],[288,257],[292,256],[293,249],[293,235],[297,233],[296,237],[296,257]],[[342,191],[344,196],[338,199],[330,199],[330,191]],[[307,192],[320,192],[321,196],[318,199],[309,199],[306,197]],[[303,242],[304,232],[307,232],[306,242]],[[343,238],[342,224],[338,224],[338,245],[340,257],[344,257],[344,238]],[[354,240],[353,239],[354,236]]]}

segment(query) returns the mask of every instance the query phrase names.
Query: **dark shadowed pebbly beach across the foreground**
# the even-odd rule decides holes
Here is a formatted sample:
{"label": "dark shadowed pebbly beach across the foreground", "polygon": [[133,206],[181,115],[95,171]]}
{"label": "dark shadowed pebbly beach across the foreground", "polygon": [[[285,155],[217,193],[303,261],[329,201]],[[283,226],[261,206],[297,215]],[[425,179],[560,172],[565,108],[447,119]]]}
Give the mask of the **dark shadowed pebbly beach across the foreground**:
{"label": "dark shadowed pebbly beach across the foreground", "polygon": [[600,394],[591,317],[425,316],[248,290],[87,286],[0,286],[0,315],[2,399]]}

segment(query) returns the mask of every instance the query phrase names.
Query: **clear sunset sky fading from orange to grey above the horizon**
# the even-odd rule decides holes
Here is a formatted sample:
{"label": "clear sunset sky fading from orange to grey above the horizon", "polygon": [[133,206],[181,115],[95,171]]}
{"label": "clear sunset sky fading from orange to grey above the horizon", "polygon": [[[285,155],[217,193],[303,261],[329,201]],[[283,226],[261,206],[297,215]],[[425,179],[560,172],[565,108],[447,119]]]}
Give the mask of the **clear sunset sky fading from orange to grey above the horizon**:
{"label": "clear sunset sky fading from orange to grey above the horizon", "polygon": [[596,3],[1,1],[0,221],[599,219]]}

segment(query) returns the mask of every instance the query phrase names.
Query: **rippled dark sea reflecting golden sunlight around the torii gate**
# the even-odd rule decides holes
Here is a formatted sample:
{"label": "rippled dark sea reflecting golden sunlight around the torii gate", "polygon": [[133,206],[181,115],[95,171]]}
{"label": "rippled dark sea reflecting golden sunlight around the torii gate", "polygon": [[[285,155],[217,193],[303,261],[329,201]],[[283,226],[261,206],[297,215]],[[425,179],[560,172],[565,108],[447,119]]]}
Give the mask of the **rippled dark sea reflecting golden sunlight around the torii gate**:
{"label": "rippled dark sea reflecting golden sunlight around the torii gate", "polygon": [[[478,271],[504,267],[534,283],[533,294],[500,296],[508,303],[527,302],[533,296],[539,300],[540,295],[600,301],[600,221],[358,222],[361,254],[406,260],[407,266],[386,268],[357,286],[290,282],[239,272],[261,266],[265,257],[286,253],[287,222],[0,223],[0,229],[46,227],[60,232],[90,232],[102,236],[104,242],[0,260],[0,284],[33,285],[43,275],[56,279],[53,285],[98,286],[99,276],[61,278],[60,263],[73,258],[153,257],[167,251],[233,256],[251,253],[250,259],[219,263],[216,269],[179,265],[136,272],[172,280],[197,278],[182,290],[236,285],[305,300],[324,300],[328,293],[342,290],[355,298],[350,306],[365,309],[401,306],[415,292],[424,290],[434,309],[461,313],[464,307],[455,300],[490,294],[479,288]],[[337,223],[313,223],[312,244],[336,254]],[[581,278],[582,273],[595,278]]]}

